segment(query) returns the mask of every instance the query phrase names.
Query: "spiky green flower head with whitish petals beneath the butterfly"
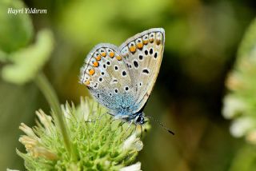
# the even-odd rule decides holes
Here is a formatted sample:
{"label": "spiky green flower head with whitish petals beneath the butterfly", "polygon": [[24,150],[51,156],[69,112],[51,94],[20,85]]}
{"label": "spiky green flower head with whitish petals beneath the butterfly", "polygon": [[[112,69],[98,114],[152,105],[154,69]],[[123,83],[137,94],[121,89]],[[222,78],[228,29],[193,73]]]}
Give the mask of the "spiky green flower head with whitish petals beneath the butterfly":
{"label": "spiky green flower head with whitish petals beneath the butterfly", "polygon": [[127,129],[128,124],[113,121],[106,109],[87,98],[82,98],[78,107],[66,103],[62,112],[76,159],[67,153],[54,118],[38,110],[37,126],[30,128],[22,123],[19,127],[26,133],[19,138],[26,153],[17,153],[25,160],[26,169],[140,170],[139,162],[132,165],[143,147],[138,129]]}

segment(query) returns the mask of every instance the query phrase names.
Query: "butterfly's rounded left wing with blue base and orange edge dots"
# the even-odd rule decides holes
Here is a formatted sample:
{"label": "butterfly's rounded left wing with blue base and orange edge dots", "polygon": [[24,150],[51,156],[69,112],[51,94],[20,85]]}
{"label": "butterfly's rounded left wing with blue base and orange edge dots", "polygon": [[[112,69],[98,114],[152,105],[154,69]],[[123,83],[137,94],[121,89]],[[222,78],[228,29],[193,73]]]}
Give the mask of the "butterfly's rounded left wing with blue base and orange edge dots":
{"label": "butterfly's rounded left wing with blue base and orange edge dots", "polygon": [[106,43],[95,46],[86,57],[80,82],[113,115],[134,101],[130,74],[117,46]]}

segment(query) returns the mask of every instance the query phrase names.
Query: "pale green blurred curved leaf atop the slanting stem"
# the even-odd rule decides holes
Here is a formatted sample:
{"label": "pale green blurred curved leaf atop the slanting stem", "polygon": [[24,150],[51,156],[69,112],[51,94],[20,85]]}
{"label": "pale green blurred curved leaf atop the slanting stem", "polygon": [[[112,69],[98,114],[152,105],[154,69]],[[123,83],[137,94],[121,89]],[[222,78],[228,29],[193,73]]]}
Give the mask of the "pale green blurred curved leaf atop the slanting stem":
{"label": "pale green blurred curved leaf atop the slanting stem", "polygon": [[42,70],[42,66],[50,58],[53,48],[54,36],[51,31],[40,31],[34,45],[10,54],[10,61],[13,64],[2,69],[2,78],[15,84],[30,82],[38,74],[38,71]]}

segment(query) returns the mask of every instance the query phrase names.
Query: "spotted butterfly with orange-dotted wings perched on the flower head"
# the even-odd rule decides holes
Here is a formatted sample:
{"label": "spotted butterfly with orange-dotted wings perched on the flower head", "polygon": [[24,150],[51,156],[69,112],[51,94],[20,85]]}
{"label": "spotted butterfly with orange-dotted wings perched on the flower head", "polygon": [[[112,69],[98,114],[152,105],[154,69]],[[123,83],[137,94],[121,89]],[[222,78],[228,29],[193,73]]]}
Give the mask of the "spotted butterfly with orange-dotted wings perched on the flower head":
{"label": "spotted butterfly with orange-dotted wings perched on the flower head", "polygon": [[165,30],[154,28],[117,47],[100,43],[87,55],[80,83],[115,119],[145,124],[143,109],[158,77]]}

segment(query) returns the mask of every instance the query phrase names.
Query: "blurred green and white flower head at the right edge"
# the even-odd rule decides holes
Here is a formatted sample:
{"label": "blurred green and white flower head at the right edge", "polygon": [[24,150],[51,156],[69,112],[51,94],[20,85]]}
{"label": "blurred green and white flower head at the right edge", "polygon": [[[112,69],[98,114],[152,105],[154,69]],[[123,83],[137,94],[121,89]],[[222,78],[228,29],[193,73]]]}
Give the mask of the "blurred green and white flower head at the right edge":
{"label": "blurred green and white flower head at the right edge", "polygon": [[238,60],[227,79],[223,116],[232,119],[230,133],[256,145],[256,19],[238,50]]}

